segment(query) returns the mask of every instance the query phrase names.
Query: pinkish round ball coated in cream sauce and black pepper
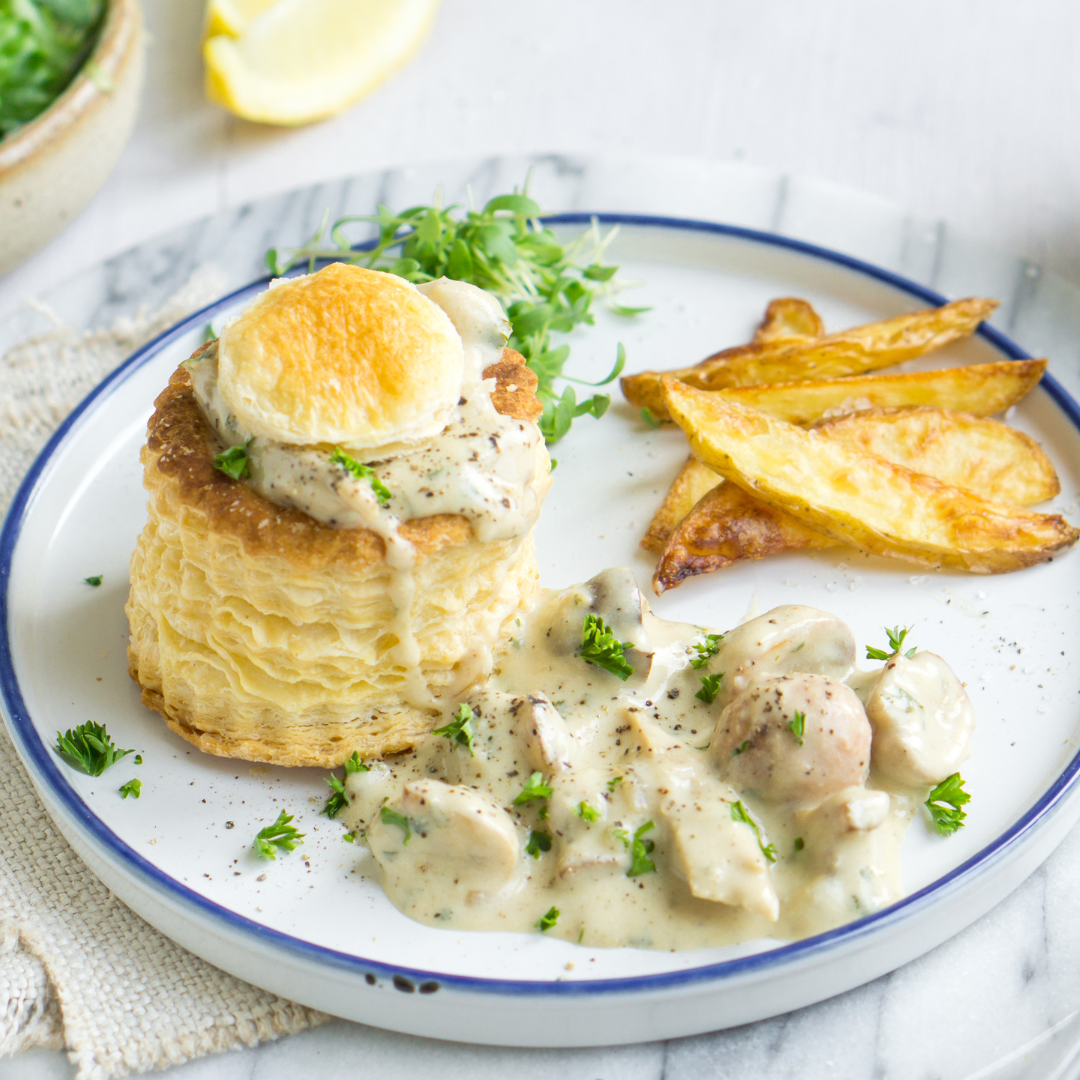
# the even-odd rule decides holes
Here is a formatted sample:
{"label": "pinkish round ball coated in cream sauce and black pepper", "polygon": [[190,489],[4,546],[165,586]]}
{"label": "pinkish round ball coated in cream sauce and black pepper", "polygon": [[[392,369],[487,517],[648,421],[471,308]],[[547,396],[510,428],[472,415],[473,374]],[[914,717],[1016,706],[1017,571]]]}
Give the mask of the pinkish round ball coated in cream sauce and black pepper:
{"label": "pinkish round ball coated in cream sauce and black pepper", "polygon": [[740,791],[815,805],[866,780],[870,726],[839,679],[755,675],[720,713],[710,748]]}

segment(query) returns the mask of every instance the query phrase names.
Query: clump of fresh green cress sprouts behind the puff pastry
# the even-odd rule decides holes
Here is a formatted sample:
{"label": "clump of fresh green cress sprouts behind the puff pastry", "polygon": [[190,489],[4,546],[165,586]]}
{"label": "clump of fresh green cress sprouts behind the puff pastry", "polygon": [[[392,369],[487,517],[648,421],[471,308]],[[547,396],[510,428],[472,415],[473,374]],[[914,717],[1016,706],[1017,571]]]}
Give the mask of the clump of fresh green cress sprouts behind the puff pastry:
{"label": "clump of fresh green cress sprouts behind the puff pastry", "polygon": [[[611,403],[608,394],[593,394],[579,402],[572,386],[581,382],[563,374],[570,356],[568,345],[556,346],[553,334],[569,334],[575,327],[593,324],[593,301],[606,299],[612,311],[634,315],[647,309],[625,308],[610,297],[618,291],[618,268],[600,260],[613,235],[602,237],[594,225],[576,240],[564,244],[556,233],[541,225],[539,204],[524,192],[498,195],[480,211],[455,217],[457,206],[411,206],[395,214],[380,205],[375,217],[342,217],[329,225],[327,212],[322,225],[302,246],[279,257],[267,252],[267,265],[274,276],[291,267],[333,259],[389,270],[408,281],[451,278],[478,285],[499,298],[510,321],[508,345],[516,349],[536,374],[537,396],[543,404],[539,427],[549,443],[562,438],[580,416],[602,417]],[[375,245],[356,249],[346,234],[353,222],[378,226]],[[329,226],[329,238],[324,240]],[[400,251],[399,251],[400,248]],[[620,345],[612,370],[599,382],[612,382],[625,364]],[[562,381],[562,389],[556,383]]]}

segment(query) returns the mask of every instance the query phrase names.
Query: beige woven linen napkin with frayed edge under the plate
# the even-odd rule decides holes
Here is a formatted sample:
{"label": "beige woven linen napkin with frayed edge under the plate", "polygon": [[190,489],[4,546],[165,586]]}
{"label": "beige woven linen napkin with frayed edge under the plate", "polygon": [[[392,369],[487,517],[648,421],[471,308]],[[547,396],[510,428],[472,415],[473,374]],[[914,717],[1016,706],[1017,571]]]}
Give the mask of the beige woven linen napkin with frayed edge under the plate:
{"label": "beige woven linen napkin with frayed edge under the plate", "polygon": [[[81,333],[57,320],[54,330],[8,352],[0,361],[0,514],[75,405],[220,291],[218,275],[204,269],[156,313]],[[110,1080],[326,1018],[218,971],[124,907],[53,826],[2,726],[0,822],[0,1057],[65,1048],[79,1080]]]}

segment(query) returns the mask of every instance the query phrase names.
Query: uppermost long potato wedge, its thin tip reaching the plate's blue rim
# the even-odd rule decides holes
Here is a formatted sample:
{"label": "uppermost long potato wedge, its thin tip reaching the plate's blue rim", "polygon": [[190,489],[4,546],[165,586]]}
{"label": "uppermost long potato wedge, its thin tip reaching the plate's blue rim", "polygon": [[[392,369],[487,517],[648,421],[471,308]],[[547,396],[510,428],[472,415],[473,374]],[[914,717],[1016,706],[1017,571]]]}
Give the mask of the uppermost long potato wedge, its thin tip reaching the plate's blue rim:
{"label": "uppermost long potato wedge, its thin tip reaching the plate's blue rim", "polygon": [[693,367],[627,375],[620,384],[631,404],[648,408],[657,419],[670,419],[660,387],[664,375],[700,390],[861,375],[970,336],[997,306],[997,300],[977,297],[954,300],[941,308],[915,311],[809,341],[791,342],[781,338],[726,349]]}

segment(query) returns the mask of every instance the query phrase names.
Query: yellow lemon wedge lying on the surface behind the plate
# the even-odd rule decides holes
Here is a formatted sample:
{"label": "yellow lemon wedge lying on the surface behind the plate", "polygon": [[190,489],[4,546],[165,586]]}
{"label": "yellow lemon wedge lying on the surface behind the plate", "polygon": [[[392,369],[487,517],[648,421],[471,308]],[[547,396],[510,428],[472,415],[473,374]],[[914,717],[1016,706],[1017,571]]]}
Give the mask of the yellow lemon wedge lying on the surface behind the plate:
{"label": "yellow lemon wedge lying on the surface behind the plate", "polygon": [[206,94],[269,124],[305,124],[374,90],[419,45],[438,0],[211,0]]}

